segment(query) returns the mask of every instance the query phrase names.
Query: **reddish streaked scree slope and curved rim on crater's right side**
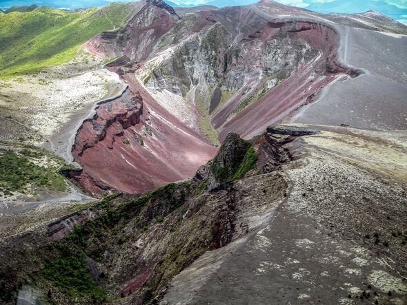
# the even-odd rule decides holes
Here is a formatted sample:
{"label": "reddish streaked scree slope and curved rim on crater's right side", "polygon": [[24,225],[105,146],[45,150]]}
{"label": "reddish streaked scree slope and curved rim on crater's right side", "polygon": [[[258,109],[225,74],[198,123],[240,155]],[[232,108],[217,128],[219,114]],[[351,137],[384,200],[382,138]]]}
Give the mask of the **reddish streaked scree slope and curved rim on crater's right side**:
{"label": "reddish streaked scree slope and curved rim on crater's right side", "polygon": [[[227,120],[234,107],[219,109],[212,119],[212,123],[219,128],[219,140],[223,140],[228,132],[237,132],[244,138],[264,132],[267,125],[284,121],[299,107],[311,103],[322,87],[344,76],[356,77],[362,73],[339,62],[337,52],[340,37],[328,25],[312,21],[276,20],[268,22],[267,26],[272,29],[271,38],[283,35],[304,40],[318,54],[234,118]],[[235,98],[235,107],[242,99],[241,94]]]}

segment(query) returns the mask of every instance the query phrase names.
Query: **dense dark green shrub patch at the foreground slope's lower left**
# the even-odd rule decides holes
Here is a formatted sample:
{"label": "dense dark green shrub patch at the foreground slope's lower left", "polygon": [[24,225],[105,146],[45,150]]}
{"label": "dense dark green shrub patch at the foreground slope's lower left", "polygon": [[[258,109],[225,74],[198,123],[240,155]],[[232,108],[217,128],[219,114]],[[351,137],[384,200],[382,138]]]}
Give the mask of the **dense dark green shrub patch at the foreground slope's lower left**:
{"label": "dense dark green shrub patch at the foreground slope's lower left", "polygon": [[87,299],[88,296],[99,302],[107,299],[106,293],[90,277],[83,254],[48,260],[41,270],[41,275],[55,286],[61,287],[72,299]]}

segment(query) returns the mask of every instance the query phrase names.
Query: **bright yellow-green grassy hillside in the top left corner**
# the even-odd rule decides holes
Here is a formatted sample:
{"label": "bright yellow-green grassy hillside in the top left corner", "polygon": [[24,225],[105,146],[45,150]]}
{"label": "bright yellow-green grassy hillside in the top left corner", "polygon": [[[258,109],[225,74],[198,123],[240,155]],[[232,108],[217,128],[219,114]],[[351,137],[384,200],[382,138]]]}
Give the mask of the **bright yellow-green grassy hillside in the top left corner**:
{"label": "bright yellow-green grassy hillside in the top left corner", "polygon": [[130,3],[66,11],[41,6],[0,17],[0,77],[38,72],[69,61],[96,34],[118,28],[132,12]]}

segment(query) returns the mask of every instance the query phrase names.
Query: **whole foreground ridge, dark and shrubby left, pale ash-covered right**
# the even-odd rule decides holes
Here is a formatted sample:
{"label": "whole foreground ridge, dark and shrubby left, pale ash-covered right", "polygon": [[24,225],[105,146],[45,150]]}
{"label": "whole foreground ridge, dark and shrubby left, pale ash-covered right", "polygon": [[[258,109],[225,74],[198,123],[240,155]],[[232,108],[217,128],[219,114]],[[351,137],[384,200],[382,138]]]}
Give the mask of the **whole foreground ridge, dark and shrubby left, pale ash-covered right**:
{"label": "whole foreground ridge, dark and shrubby left, pale ash-covered right", "polygon": [[397,304],[407,296],[405,140],[304,125],[252,142],[228,134],[192,179],[3,238],[1,300]]}

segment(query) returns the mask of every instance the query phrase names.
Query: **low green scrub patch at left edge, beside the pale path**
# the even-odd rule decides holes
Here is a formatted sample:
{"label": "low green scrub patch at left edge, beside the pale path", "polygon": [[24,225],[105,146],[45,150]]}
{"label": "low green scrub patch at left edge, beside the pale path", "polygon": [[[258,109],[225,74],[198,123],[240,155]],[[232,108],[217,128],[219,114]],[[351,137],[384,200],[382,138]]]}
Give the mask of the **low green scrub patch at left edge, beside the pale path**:
{"label": "low green scrub patch at left edge, beside the pale path", "polygon": [[34,187],[64,191],[66,182],[57,173],[57,167],[43,167],[32,161],[41,157],[41,152],[28,149],[22,149],[20,154],[11,150],[0,151],[0,191],[5,195],[14,191],[32,190]]}

